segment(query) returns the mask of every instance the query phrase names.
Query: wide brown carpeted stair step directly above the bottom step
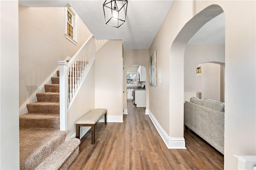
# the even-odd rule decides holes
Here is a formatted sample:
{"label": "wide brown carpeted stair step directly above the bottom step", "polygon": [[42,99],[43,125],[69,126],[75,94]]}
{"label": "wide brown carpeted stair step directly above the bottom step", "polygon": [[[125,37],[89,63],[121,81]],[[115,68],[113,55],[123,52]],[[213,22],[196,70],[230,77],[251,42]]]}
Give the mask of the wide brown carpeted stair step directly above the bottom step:
{"label": "wide brown carpeted stair step directly above the bottom step", "polygon": [[20,170],[33,170],[65,141],[66,131],[20,129]]}

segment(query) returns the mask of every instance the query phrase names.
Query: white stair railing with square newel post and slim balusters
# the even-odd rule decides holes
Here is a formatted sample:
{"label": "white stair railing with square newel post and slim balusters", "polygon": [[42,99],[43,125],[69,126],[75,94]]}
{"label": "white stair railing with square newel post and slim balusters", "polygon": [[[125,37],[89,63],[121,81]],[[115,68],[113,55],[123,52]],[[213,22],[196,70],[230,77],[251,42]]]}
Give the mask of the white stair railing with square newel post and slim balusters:
{"label": "white stair railing with square newel post and slim balusters", "polygon": [[95,38],[92,35],[69,62],[60,66],[60,130],[67,130],[68,109],[95,60]]}

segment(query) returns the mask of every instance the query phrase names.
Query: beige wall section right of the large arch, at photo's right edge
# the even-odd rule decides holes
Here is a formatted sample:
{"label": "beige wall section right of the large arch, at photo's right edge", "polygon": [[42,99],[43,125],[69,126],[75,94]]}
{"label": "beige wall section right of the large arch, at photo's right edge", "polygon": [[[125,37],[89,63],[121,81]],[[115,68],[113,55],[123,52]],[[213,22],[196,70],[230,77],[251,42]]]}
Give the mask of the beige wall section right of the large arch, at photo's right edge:
{"label": "beige wall section right of the large arch, at photo's right edge", "polygon": [[226,16],[224,168],[235,169],[234,154],[256,155],[256,2],[217,4]]}

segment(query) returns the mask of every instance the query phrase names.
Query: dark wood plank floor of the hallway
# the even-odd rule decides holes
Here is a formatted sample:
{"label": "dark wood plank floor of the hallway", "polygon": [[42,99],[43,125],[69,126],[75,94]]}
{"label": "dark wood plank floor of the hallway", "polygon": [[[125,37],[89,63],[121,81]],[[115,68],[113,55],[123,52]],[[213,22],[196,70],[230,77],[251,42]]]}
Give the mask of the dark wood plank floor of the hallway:
{"label": "dark wood plank floor of the hallway", "polygon": [[190,130],[187,149],[167,149],[145,107],[128,101],[124,123],[97,123],[95,144],[90,131],[81,139],[80,153],[69,170],[222,170],[224,156]]}

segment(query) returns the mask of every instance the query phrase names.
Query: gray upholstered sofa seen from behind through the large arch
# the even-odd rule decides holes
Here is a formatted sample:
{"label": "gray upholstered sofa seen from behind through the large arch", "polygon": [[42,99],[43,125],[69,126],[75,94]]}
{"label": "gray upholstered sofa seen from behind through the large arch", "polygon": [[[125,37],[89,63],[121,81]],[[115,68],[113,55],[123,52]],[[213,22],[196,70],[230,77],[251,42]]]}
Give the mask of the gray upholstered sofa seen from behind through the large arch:
{"label": "gray upholstered sofa seen from behind through the large arch", "polygon": [[209,99],[190,98],[184,103],[184,125],[224,154],[225,104]]}

